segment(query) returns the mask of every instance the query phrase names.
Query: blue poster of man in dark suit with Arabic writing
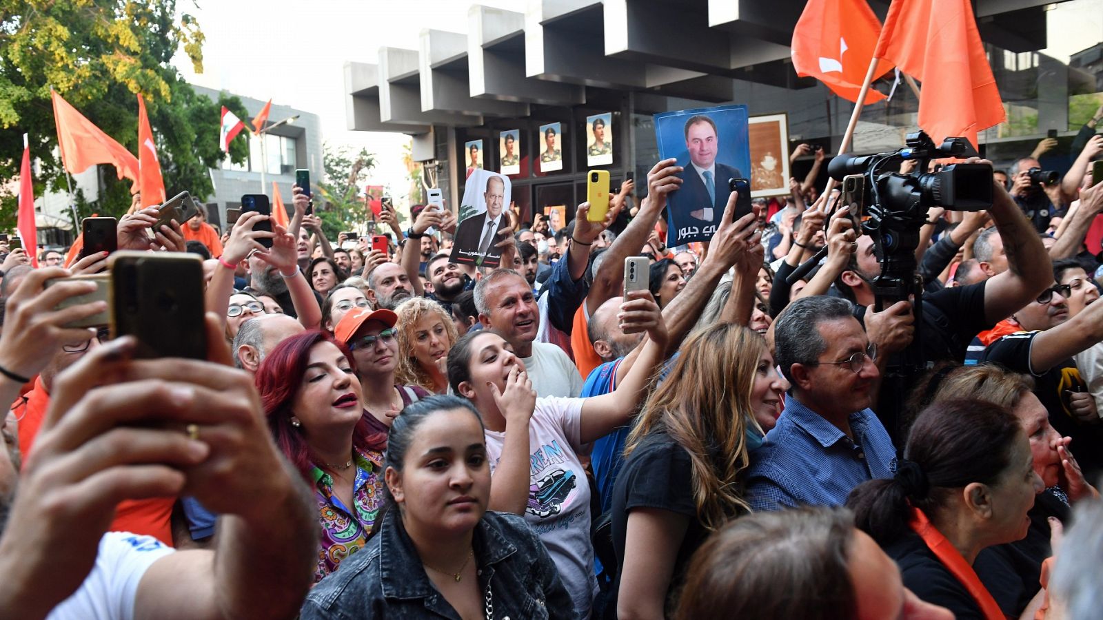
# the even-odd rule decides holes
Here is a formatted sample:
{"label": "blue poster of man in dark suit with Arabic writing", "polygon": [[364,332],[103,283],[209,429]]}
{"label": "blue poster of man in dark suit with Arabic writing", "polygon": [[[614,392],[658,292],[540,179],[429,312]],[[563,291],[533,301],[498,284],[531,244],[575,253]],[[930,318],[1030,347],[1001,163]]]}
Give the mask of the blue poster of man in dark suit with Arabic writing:
{"label": "blue poster of man in dark suit with Arabic writing", "polygon": [[713,238],[731,194],[728,181],[750,171],[747,106],[719,106],[655,115],[658,156],[683,168],[682,186],[667,203],[666,245]]}

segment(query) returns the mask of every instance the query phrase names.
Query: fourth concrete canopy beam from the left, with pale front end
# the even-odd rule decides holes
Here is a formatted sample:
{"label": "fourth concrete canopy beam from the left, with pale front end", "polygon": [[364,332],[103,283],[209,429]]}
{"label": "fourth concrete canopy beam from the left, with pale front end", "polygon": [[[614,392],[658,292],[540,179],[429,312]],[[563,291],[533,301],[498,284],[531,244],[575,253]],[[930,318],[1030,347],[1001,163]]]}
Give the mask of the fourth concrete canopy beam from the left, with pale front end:
{"label": "fourth concrete canopy beam from the left, with pale front end", "polygon": [[524,13],[472,4],[468,26],[472,97],[546,106],[586,103],[581,86],[525,77]]}

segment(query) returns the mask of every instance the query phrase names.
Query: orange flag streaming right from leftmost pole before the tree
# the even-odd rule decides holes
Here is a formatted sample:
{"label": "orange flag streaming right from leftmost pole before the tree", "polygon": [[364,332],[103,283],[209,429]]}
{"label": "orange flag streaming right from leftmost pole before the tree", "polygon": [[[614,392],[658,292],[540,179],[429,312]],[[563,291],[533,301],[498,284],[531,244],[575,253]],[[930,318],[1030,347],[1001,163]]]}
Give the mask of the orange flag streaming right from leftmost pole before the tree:
{"label": "orange flag streaming right from leftmost pole before the tree", "polygon": [[89,165],[109,163],[118,171],[119,179],[126,177],[137,183],[138,158],[76,111],[56,92],[52,90],[51,96],[54,99],[57,148],[62,152],[65,170],[76,174],[84,172]]}

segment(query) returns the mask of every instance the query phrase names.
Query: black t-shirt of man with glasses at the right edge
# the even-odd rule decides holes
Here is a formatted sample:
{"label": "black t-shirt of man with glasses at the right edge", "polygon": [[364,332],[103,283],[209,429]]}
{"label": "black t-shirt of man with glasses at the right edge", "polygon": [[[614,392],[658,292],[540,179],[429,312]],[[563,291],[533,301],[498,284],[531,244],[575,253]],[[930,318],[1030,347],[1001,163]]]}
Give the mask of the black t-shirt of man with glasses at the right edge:
{"label": "black t-shirt of man with glasses at the right edge", "polygon": [[1088,392],[1077,363],[1070,357],[1042,373],[1030,367],[1030,346],[1041,332],[1017,332],[993,342],[981,354],[981,362],[995,362],[1009,371],[1035,377],[1035,395],[1049,411],[1049,424],[1062,436],[1071,437],[1070,449],[1088,480],[1103,472],[1103,426],[1078,423],[1069,410],[1065,392]]}

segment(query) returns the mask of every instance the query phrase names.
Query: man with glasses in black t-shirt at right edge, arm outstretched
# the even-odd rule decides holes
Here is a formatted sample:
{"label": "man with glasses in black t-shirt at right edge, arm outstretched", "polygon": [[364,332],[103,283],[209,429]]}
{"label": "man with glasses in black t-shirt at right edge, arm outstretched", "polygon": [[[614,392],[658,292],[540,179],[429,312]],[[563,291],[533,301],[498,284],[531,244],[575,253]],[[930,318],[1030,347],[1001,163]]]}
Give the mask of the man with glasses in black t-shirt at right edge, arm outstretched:
{"label": "man with glasses in black t-shirt at right edge, arm outstretched", "polygon": [[1070,316],[1071,284],[1047,288],[1014,314],[1018,330],[989,344],[981,362],[1035,377],[1035,395],[1049,411],[1050,425],[1072,437],[1077,460],[1090,480],[1103,473],[1103,426],[1095,399],[1073,356],[1103,341],[1103,303],[1089,303]]}

